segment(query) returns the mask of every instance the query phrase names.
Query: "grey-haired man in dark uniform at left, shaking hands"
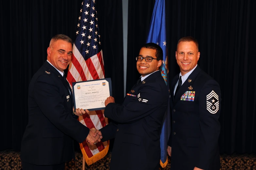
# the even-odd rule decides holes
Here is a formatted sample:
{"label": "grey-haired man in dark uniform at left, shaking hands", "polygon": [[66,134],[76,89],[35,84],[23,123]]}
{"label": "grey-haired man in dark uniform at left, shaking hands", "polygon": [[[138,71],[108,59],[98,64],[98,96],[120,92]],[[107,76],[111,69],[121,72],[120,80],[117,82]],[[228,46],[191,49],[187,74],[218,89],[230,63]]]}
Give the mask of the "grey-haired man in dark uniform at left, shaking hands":
{"label": "grey-haired man in dark uniform at left, shaking hands", "polygon": [[73,139],[93,145],[94,132],[77,116],[88,110],[73,110],[72,91],[64,77],[71,61],[72,40],[55,35],[47,49],[47,61],[35,73],[28,89],[28,125],[21,144],[23,170],[64,170],[75,159]]}

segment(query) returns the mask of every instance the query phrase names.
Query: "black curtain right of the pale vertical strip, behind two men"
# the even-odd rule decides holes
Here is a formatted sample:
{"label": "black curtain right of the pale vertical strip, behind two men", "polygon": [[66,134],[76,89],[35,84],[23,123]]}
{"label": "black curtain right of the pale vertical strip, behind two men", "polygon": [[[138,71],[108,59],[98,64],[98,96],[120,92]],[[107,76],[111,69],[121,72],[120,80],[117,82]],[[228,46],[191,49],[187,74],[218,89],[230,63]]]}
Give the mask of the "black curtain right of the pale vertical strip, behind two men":
{"label": "black curtain right of the pale vertical strip, behind two men", "polygon": [[[129,0],[127,88],[139,78],[135,57],[145,44],[155,0]],[[169,75],[179,73],[179,38],[198,40],[198,65],[220,85],[220,153],[256,152],[254,0],[165,0]]]}

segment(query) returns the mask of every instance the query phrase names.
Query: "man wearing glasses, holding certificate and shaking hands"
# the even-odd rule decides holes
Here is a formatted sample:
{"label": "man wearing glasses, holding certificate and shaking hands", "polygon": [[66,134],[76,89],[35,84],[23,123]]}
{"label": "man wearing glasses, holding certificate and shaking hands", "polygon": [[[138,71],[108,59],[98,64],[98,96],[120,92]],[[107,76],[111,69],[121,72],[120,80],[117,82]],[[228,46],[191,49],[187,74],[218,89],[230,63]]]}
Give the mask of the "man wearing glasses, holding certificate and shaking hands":
{"label": "man wearing glasses, holding certificate and shaking hands", "polygon": [[136,57],[141,78],[127,93],[123,105],[113,97],[105,101],[105,117],[113,120],[96,134],[101,141],[115,138],[110,170],[158,170],[160,131],[169,92],[159,68],[163,52],[155,43],[145,44]]}

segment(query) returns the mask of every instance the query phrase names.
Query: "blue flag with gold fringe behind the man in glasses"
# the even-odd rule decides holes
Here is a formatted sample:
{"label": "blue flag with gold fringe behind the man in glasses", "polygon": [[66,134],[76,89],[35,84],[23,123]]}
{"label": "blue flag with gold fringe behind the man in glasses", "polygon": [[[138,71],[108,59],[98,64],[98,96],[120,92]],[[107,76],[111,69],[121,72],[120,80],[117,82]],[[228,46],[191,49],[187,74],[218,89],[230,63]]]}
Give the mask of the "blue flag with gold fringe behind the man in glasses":
{"label": "blue flag with gold fringe behind the man in glasses", "polygon": [[[163,50],[163,61],[160,67],[162,77],[165,80],[166,85],[169,87],[169,69],[168,69],[168,56],[166,48],[166,34],[165,34],[165,2],[164,0],[156,0],[151,22],[149,33],[146,43],[153,42],[159,45]],[[170,98],[169,98],[170,100]],[[160,134],[160,165],[164,168],[167,163],[167,142],[169,139],[171,131],[171,112],[170,112],[170,102],[168,101],[167,110],[165,112],[162,129]]]}

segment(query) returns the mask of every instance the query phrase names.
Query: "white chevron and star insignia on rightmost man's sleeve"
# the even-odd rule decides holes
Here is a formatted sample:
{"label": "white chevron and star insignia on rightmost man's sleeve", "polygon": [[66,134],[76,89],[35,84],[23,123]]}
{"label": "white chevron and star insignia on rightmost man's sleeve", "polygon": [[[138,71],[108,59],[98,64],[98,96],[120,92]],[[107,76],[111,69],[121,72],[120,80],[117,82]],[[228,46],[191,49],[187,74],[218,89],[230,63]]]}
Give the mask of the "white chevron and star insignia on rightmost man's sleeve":
{"label": "white chevron and star insignia on rightmost man's sleeve", "polygon": [[211,114],[215,114],[219,110],[219,96],[214,91],[206,95],[206,109]]}

